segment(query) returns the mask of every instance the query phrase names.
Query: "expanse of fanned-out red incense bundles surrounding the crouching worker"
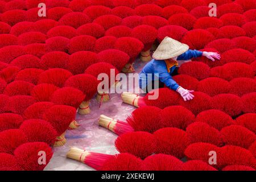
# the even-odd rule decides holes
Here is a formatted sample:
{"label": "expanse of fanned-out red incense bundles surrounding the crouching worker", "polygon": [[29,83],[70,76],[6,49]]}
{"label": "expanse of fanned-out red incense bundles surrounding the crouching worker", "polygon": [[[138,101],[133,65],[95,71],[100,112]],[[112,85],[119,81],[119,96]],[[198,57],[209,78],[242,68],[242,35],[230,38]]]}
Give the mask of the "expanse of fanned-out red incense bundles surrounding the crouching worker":
{"label": "expanse of fanned-out red incense bundles surrounding the crouching worker", "polygon": [[[75,128],[76,109],[90,111],[98,82],[85,70],[105,62],[133,71],[136,57],[148,60],[165,36],[222,58],[181,66],[174,79],[197,91],[195,100],[170,94],[168,101],[165,92],[141,98],[160,109],[135,110],[128,121],[136,132],[116,142],[134,156],[115,156],[103,169],[255,169],[256,0],[46,0],[46,17],[38,16],[40,2],[0,1],[0,170],[43,170],[38,151],[48,163],[49,146],[64,145],[65,131]],[[212,2],[217,17],[208,16]],[[218,166],[208,165],[209,150],[220,156]]]}

